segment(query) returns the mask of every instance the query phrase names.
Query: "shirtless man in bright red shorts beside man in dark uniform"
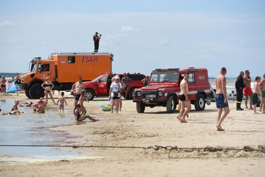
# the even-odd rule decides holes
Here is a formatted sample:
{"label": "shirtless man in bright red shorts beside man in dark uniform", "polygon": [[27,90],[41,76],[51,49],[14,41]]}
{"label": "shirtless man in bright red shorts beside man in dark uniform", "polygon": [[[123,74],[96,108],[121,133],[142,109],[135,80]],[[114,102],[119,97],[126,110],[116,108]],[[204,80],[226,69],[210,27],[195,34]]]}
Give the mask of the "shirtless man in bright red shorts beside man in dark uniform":
{"label": "shirtless man in bright red shorts beside man in dark uniform", "polygon": [[[246,110],[248,109],[253,109],[252,108],[252,90],[251,90],[251,78],[250,78],[250,72],[249,70],[245,71],[245,76],[243,78],[244,84],[246,85],[244,88],[244,95],[245,95],[245,105],[246,105]],[[250,99],[250,108],[248,108],[248,99]]]}

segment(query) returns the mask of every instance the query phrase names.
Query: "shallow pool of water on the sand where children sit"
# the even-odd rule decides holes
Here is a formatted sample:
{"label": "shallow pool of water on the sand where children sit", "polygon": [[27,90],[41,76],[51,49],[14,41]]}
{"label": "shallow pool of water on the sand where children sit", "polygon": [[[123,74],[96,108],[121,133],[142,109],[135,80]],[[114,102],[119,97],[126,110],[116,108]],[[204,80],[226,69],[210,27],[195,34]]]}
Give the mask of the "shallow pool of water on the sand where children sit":
{"label": "shallow pool of water on the sand where children sit", "polygon": [[[22,104],[26,104],[20,102]],[[0,99],[1,113],[11,112],[14,100]],[[75,137],[65,131],[54,131],[49,128],[58,126],[70,126],[86,123],[76,122],[72,109],[65,109],[64,114],[59,114],[57,108],[45,107],[44,114],[33,114],[33,107],[18,107],[19,111],[25,111],[21,115],[0,115],[0,145],[62,145],[75,143]],[[0,153],[20,156],[39,156],[53,158],[62,155],[76,155],[76,152],[62,151],[56,147],[13,147],[0,146]],[[55,155],[56,154],[56,155]],[[80,153],[79,153],[80,154]],[[86,153],[87,154],[87,153]],[[32,157],[36,158],[36,157]],[[51,157],[50,157],[51,158]],[[16,158],[15,158],[16,159]],[[0,158],[0,161],[6,161]],[[10,160],[9,160],[10,161]],[[13,161],[15,161],[13,159]]]}

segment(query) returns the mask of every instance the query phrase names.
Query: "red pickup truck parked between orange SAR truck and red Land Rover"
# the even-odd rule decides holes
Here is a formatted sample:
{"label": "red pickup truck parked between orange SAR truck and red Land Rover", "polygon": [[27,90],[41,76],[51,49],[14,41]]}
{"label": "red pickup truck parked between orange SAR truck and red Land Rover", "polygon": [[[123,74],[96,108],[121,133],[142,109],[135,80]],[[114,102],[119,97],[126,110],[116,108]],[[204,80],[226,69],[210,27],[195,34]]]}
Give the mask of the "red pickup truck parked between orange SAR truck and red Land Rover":
{"label": "red pickup truck parked between orange SAR truck and red Land Rover", "polygon": [[[124,77],[124,73],[117,73],[117,75],[120,76],[120,80]],[[142,79],[144,79],[146,76],[140,73],[130,74],[128,72],[127,76],[132,79],[132,82],[129,85],[127,98],[133,100],[134,89],[143,87]],[[96,77],[92,81],[83,82],[86,89],[86,99],[93,100],[94,96],[108,96],[112,77],[112,73],[106,73]]]}

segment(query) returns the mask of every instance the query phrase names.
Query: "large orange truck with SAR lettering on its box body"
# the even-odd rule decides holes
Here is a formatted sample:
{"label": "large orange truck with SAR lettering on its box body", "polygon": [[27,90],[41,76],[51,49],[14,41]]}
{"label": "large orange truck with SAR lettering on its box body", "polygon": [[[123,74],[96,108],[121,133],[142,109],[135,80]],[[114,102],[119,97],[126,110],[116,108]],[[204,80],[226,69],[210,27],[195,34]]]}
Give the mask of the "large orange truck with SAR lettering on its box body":
{"label": "large orange truck with SAR lettering on its box body", "polygon": [[53,82],[53,90],[71,90],[78,76],[90,81],[106,72],[112,72],[111,53],[53,53],[46,59],[36,57],[30,61],[29,72],[16,81],[28,98],[44,97],[41,84],[46,77]]}

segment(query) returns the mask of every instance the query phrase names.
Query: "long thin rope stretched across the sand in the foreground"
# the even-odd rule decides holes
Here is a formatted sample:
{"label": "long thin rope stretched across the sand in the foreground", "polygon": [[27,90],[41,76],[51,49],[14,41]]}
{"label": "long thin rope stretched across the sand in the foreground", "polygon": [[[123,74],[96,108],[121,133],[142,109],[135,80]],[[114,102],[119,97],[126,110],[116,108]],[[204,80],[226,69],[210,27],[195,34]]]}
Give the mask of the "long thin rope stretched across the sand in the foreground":
{"label": "long thin rope stretched across the sand in the foreground", "polygon": [[204,147],[204,148],[198,148],[198,147],[177,147],[177,146],[149,146],[149,147],[134,147],[134,146],[60,146],[60,145],[0,145],[1,146],[15,146],[15,147],[72,147],[72,148],[78,148],[78,147],[99,147],[99,148],[142,148],[144,149],[144,155],[146,154],[146,149],[153,149],[155,151],[158,151],[159,149],[165,149],[165,150],[170,150],[168,153],[168,157],[170,157],[170,152],[171,150],[178,150],[178,149],[192,149],[192,150],[204,150],[204,151],[210,151],[210,152],[216,152],[216,151],[223,151],[223,150],[227,150],[227,151],[246,151],[246,152],[251,152],[251,151],[261,151],[263,153],[265,153],[265,149],[263,146],[260,146],[260,149],[252,149],[248,146],[245,146],[243,149],[236,149],[236,148],[214,148],[214,147]]}

